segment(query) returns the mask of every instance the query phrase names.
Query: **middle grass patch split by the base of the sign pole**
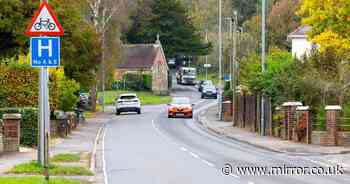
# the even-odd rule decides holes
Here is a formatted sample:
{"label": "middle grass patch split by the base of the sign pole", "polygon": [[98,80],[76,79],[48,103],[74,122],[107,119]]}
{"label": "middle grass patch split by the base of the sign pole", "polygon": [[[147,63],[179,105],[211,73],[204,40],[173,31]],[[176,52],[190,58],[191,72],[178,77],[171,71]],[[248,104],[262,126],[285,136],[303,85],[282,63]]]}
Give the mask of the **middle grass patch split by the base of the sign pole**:
{"label": "middle grass patch split by the base of the sign pole", "polygon": [[[41,167],[36,161],[29,163],[18,164],[8,171],[11,174],[42,174],[44,168]],[[50,165],[49,166],[50,175],[57,176],[92,176],[93,173],[79,166],[60,166],[60,165]],[[1,183],[1,182],[0,182]]]}

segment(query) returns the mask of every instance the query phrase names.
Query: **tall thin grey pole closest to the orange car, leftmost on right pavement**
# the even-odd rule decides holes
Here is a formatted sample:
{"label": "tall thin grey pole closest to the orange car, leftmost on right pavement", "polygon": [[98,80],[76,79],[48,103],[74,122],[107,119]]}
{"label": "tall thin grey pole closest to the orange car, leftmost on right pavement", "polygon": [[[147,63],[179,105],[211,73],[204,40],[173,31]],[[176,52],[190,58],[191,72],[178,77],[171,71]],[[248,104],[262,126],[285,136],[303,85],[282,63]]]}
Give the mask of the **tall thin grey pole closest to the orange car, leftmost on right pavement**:
{"label": "tall thin grey pole closest to the orange car, leftmost on right pavement", "polygon": [[219,0],[219,119],[222,120],[222,0]]}

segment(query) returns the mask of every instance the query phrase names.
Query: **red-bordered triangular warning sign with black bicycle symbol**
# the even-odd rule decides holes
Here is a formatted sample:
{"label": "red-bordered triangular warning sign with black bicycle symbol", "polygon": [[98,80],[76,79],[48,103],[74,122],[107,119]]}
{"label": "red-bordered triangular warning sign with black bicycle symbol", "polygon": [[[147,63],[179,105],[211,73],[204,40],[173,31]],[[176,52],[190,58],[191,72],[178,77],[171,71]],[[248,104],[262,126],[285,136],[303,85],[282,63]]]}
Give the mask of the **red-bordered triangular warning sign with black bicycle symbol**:
{"label": "red-bordered triangular warning sign with black bicycle symbol", "polygon": [[64,30],[49,4],[43,1],[27,28],[28,36],[62,36]]}

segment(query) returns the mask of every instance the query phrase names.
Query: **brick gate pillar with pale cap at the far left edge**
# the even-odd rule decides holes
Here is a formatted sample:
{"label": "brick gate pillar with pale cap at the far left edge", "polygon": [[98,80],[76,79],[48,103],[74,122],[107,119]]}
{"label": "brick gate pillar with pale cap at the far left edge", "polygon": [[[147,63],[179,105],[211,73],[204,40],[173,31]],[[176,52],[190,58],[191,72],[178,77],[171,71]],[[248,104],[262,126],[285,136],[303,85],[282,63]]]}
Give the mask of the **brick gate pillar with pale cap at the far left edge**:
{"label": "brick gate pillar with pale cap at the far left edge", "polygon": [[19,151],[21,114],[4,114],[2,119],[4,152]]}

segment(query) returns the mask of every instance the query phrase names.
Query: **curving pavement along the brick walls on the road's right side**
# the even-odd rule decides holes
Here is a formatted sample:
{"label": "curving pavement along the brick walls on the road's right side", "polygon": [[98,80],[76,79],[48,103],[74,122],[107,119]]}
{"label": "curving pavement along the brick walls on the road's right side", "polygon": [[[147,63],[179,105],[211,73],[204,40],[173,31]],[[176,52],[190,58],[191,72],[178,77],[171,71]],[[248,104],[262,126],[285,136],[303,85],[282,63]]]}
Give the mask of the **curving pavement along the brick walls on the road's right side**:
{"label": "curving pavement along the brick walls on the road's right side", "polygon": [[310,145],[260,136],[258,133],[233,127],[232,122],[220,121],[216,105],[202,111],[198,120],[204,127],[221,136],[277,153],[313,156],[328,165],[341,163],[350,172],[350,147]]}

